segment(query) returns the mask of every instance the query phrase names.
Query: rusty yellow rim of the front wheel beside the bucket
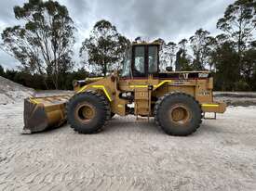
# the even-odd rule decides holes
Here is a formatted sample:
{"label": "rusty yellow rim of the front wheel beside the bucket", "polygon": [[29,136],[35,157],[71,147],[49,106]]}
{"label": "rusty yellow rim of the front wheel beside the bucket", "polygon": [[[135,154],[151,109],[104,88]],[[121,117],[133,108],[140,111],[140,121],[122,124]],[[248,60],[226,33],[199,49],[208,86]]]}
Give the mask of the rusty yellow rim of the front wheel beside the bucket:
{"label": "rusty yellow rim of the front wheel beside the bucket", "polygon": [[75,108],[75,118],[82,123],[88,123],[95,117],[95,108],[89,103],[83,103]]}

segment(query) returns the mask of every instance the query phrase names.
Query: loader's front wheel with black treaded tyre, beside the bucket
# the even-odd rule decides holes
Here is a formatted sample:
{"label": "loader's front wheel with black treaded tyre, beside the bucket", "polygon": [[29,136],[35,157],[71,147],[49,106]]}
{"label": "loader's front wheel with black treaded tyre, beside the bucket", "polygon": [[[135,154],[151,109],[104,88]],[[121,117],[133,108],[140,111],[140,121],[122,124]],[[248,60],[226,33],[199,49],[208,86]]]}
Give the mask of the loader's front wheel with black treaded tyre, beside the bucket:
{"label": "loader's front wheel with black treaded tyre, beside the bucket", "polygon": [[68,123],[79,134],[99,132],[109,118],[109,103],[97,92],[74,95],[67,104]]}

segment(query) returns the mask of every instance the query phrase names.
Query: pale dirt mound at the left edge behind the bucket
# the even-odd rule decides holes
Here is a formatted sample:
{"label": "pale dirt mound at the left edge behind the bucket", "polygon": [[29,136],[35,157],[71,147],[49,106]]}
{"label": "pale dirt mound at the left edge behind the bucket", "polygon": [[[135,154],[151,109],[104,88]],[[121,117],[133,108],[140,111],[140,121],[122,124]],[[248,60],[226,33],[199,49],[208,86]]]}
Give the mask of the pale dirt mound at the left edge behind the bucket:
{"label": "pale dirt mound at the left edge behind the bucket", "polygon": [[0,105],[18,102],[28,96],[34,95],[34,89],[13,83],[0,76]]}

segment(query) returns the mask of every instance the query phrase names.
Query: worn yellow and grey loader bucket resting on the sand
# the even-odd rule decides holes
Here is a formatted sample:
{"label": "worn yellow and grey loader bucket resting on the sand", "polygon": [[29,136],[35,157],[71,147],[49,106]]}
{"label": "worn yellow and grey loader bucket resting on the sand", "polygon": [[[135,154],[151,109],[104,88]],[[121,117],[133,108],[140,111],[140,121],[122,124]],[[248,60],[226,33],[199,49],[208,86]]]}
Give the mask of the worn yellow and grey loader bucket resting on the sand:
{"label": "worn yellow and grey loader bucket resting on the sand", "polygon": [[66,122],[65,105],[71,96],[30,97],[24,100],[23,134],[43,132]]}

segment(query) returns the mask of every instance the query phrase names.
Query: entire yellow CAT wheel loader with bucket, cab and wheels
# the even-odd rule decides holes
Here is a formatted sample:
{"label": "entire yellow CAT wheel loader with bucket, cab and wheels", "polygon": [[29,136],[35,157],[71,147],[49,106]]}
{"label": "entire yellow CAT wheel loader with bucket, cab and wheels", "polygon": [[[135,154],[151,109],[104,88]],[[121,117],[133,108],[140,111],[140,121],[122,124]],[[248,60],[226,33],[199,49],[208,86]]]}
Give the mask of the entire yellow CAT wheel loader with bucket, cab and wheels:
{"label": "entire yellow CAT wheel loader with bucket, cab and wheels", "polygon": [[68,121],[79,134],[95,134],[115,114],[155,118],[165,133],[185,136],[200,126],[205,113],[223,113],[213,101],[209,71],[159,70],[160,45],[133,44],[121,74],[74,82],[74,96],[25,100],[24,133],[61,126]]}

